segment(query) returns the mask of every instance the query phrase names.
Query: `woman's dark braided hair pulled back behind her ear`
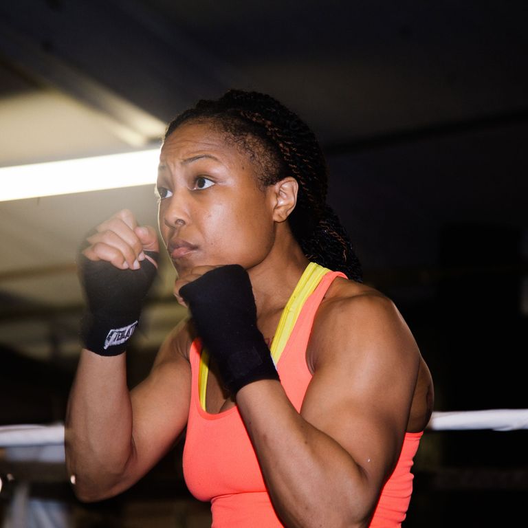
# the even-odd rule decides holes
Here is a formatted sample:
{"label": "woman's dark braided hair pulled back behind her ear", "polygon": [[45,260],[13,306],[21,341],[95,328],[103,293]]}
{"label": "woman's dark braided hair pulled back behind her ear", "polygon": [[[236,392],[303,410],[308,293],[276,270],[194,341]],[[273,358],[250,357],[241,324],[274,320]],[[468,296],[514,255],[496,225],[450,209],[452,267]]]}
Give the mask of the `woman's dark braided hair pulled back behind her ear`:
{"label": "woman's dark braided hair pulled back behind her ear", "polygon": [[362,282],[362,269],[338,217],[327,205],[328,168],[307,124],[276,99],[255,91],[230,90],[218,100],[200,100],[168,125],[164,139],[186,122],[223,132],[254,162],[259,183],[284,177],[298,181],[297,204],[288,221],[310,261]]}

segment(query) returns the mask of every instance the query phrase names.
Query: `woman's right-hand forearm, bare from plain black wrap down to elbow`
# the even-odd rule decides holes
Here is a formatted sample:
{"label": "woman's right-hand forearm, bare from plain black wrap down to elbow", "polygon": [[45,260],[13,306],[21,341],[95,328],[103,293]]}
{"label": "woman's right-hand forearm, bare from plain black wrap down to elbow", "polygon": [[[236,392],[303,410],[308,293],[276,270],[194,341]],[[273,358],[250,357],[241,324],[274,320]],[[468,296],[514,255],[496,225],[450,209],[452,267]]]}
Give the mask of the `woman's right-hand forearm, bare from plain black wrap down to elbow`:
{"label": "woman's right-hand forearm, bare from plain black wrap down to elbow", "polygon": [[365,472],[338,442],[298,414],[278,383],[245,386],[236,401],[287,526],[368,525],[373,499]]}

